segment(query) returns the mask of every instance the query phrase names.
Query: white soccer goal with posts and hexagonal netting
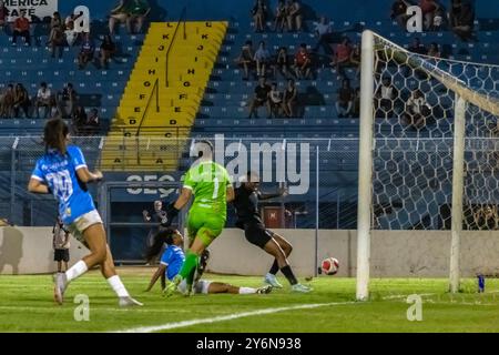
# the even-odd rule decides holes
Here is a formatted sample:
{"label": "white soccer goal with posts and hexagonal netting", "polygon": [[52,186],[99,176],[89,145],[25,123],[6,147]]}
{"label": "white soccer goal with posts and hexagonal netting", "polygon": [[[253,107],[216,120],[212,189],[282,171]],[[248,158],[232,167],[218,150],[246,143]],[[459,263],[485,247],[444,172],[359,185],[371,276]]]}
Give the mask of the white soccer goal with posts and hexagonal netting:
{"label": "white soccer goal with posts and hexagonal netting", "polygon": [[363,33],[357,300],[369,297],[374,230],[498,227],[499,67],[426,57]]}

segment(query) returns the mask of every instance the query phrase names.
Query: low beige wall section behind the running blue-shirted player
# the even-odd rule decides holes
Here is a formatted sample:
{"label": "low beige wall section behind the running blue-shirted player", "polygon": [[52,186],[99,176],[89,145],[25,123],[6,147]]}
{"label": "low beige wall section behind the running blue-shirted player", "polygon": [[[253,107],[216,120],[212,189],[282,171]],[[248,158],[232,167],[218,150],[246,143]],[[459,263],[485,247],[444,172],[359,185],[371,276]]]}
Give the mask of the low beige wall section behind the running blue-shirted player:
{"label": "low beige wall section behind the running blue-shirted player", "polygon": [[[69,265],[85,254],[86,247],[72,239]],[[0,275],[53,272],[52,227],[0,227]]]}

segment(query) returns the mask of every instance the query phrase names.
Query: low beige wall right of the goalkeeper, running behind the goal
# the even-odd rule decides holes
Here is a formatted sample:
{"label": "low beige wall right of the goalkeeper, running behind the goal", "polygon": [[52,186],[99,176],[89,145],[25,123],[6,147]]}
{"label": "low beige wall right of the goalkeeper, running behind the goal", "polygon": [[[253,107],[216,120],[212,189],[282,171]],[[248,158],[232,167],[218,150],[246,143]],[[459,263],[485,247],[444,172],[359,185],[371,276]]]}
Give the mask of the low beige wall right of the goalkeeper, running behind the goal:
{"label": "low beige wall right of the goalkeeper, running behind the goal", "polygon": [[[314,273],[314,230],[276,230],[293,244],[289,261],[299,276]],[[356,231],[319,231],[318,261],[334,256],[339,261],[340,277],[355,277],[357,264]],[[272,260],[249,244],[241,230],[224,230],[210,246],[212,272],[241,275],[265,274]],[[448,277],[450,232],[375,231],[371,236],[373,277]],[[461,273],[499,272],[497,232],[465,232],[461,240]]]}

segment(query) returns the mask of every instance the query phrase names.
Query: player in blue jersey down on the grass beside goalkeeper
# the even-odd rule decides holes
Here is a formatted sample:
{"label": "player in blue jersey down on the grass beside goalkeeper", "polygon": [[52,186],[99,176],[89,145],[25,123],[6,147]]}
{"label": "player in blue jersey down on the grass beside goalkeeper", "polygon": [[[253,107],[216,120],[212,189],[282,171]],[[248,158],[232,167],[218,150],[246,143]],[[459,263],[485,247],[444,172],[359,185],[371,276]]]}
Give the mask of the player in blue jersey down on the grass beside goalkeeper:
{"label": "player in blue jersey down on the grass beside goalkeeper", "polygon": [[[185,255],[182,251],[182,244],[184,243],[184,237],[182,234],[174,230],[169,229],[165,231],[159,232],[155,237],[153,244],[146,251],[146,258],[154,258],[162,250],[163,244],[166,244],[167,247],[163,252],[161,256],[160,266],[151,278],[151,282],[147,286],[147,290],[154,286],[157,280],[161,277],[161,288],[164,291],[166,287],[166,278],[172,281],[180,272],[184,261]],[[197,268],[197,277],[201,277],[206,263],[207,263],[207,254],[206,257],[202,257],[200,260],[200,265]],[[181,288],[185,287],[186,283],[181,283]],[[237,287],[230,284],[221,283],[221,282],[212,282],[207,280],[197,280],[194,283],[194,292],[195,293],[232,293],[232,294],[266,294],[272,291],[272,286],[267,285],[259,288],[253,287]]]}

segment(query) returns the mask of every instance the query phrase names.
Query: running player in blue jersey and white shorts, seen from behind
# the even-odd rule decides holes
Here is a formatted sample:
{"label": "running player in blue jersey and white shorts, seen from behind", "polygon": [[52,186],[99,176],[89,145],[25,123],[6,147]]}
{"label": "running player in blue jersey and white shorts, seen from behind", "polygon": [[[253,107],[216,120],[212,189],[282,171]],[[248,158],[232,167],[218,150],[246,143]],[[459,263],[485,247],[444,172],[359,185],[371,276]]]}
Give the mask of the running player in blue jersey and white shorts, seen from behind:
{"label": "running player in blue jersey and white shorts, seen from behind", "polygon": [[45,153],[37,161],[28,190],[51,193],[59,202],[59,215],[70,233],[90,248],[90,254],[54,278],[54,298],[63,302],[69,283],[89,268],[100,265],[102,275],[119,297],[120,306],[142,305],[133,300],[116,275],[106,243],[102,220],[95,210],[86,183],[102,179],[100,171],[90,172],[80,148],[69,145],[68,125],[52,119],[44,126]]}

